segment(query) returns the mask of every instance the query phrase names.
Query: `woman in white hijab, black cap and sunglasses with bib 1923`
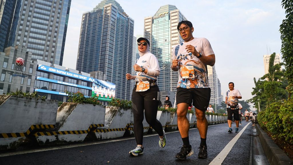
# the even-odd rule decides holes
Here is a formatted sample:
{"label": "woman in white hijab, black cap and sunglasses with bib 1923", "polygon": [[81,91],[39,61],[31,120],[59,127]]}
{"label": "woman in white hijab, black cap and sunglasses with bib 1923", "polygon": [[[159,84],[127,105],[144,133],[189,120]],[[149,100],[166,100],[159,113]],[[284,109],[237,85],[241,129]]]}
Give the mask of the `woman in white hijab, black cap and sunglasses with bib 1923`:
{"label": "woman in white hijab, black cap and sunglasses with bib 1923", "polygon": [[160,75],[159,62],[156,56],[149,52],[149,40],[147,38],[138,38],[137,42],[139,58],[133,65],[136,75],[126,74],[127,80],[135,80],[131,101],[137,147],[129,152],[133,156],[143,154],[142,121],[144,115],[149,125],[159,134],[159,146],[163,148],[166,145],[165,131],[162,124],[156,119],[160,102],[160,91],[157,85],[157,76]]}

